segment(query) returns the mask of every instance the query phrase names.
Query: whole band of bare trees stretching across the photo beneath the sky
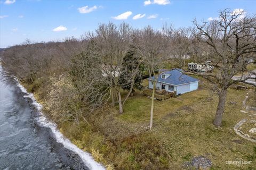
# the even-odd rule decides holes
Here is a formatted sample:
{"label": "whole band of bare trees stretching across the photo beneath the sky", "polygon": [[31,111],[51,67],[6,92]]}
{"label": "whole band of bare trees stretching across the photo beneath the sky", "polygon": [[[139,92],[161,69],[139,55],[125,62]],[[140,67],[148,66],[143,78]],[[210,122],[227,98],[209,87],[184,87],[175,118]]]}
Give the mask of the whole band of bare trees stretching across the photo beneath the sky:
{"label": "whole band of bare trees stretching across the photo beneath the sky", "polygon": [[[218,19],[194,20],[189,28],[174,29],[172,24],[164,24],[161,30],[150,26],[133,29],[127,23],[110,22],[99,24],[80,39],[71,37],[49,43],[26,40],[1,52],[1,60],[7,73],[32,84],[31,91],[48,87],[44,91],[45,108],[55,121],[77,123],[81,118],[86,121],[87,114],[106,104],[117,104],[123,114],[123,106],[134,89],[143,88],[143,78],[157,79],[166,64],[179,67],[184,74],[198,75],[211,83],[211,89],[219,95],[213,124],[221,126],[228,87],[253,79],[251,75],[255,73],[246,66],[256,60],[255,42],[256,17],[225,9],[219,12]],[[186,56],[194,63],[211,61],[214,70],[188,71]],[[238,73],[246,73],[246,77],[233,80]],[[150,129],[155,90],[156,81],[151,96]]]}

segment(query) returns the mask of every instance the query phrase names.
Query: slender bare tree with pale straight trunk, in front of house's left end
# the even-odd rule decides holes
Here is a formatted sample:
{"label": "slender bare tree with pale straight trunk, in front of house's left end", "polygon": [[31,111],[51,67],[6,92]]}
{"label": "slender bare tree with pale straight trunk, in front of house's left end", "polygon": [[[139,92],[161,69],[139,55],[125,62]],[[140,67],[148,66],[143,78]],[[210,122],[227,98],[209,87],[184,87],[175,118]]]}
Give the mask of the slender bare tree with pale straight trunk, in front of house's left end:
{"label": "slender bare tree with pale straight trunk, in front of house's left end", "polygon": [[157,73],[159,73],[163,68],[164,61],[168,55],[167,48],[171,33],[172,26],[163,27],[162,31],[156,31],[148,26],[141,31],[137,30],[137,38],[134,41],[134,44],[137,47],[137,52],[147,67],[149,77],[152,78],[154,76],[155,78],[155,81],[153,81],[153,92],[151,96],[150,129],[153,127],[154,97],[159,75]]}

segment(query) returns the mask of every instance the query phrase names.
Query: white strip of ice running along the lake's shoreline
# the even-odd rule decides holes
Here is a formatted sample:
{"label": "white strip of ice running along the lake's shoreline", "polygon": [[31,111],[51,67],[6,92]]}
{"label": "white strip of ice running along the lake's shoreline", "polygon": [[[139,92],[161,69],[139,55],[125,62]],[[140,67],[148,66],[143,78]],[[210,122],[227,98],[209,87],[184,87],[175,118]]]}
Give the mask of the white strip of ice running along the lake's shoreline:
{"label": "white strip of ice running along the lake's shoreline", "polygon": [[62,145],[75,152],[84,162],[84,164],[89,167],[90,169],[94,170],[100,170],[100,169],[105,169],[100,163],[95,162],[95,160],[92,158],[91,154],[84,152],[83,150],[79,149],[76,145],[74,145],[73,143],[71,143],[70,140],[68,140],[67,138],[65,138],[63,136],[62,133],[60,133],[60,131],[57,128],[57,125],[49,120],[47,120],[47,118],[43,115],[42,112],[42,108],[43,106],[41,104],[39,104],[34,95],[32,93],[27,92],[27,90],[20,84],[20,82],[18,81],[18,79],[14,78],[17,82],[18,82],[18,87],[20,88],[20,90],[22,92],[24,92],[25,96],[23,96],[24,98],[30,98],[33,101],[33,105],[35,105],[35,107],[38,109],[39,111],[39,117],[37,118],[37,122],[39,123],[39,125],[50,128],[54,134],[54,138],[57,142],[62,143]]}

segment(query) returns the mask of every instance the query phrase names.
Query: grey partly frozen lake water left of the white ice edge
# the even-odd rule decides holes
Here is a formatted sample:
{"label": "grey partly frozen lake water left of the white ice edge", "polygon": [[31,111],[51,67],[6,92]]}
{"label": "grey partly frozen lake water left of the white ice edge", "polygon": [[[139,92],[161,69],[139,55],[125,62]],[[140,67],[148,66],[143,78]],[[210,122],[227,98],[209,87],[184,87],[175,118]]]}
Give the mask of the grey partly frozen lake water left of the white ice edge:
{"label": "grey partly frozen lake water left of the white ice edge", "polygon": [[91,169],[39,125],[39,112],[25,95],[0,72],[0,169]]}

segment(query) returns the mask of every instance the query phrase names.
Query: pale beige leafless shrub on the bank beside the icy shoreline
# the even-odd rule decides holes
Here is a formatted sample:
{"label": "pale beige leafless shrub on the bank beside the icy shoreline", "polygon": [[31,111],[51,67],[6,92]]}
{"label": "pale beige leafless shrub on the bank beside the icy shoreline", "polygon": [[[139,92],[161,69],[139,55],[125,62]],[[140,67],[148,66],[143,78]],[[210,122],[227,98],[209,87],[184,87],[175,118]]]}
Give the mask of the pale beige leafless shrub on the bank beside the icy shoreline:
{"label": "pale beige leafless shrub on the bank beside the icy shoreline", "polygon": [[82,100],[69,77],[51,78],[50,92],[45,100],[45,110],[55,122],[79,123]]}

